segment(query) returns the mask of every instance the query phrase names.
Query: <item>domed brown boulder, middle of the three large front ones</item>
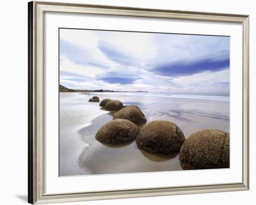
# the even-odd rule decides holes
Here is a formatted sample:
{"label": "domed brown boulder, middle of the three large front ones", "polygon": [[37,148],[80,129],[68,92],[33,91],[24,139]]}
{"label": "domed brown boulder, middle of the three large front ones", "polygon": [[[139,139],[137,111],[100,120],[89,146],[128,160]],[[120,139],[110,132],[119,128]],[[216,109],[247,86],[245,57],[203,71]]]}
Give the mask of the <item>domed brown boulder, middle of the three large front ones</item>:
{"label": "domed brown boulder, middle of the three large front ones", "polygon": [[161,154],[179,151],[184,141],[182,130],[175,123],[163,120],[149,122],[136,138],[139,149]]}

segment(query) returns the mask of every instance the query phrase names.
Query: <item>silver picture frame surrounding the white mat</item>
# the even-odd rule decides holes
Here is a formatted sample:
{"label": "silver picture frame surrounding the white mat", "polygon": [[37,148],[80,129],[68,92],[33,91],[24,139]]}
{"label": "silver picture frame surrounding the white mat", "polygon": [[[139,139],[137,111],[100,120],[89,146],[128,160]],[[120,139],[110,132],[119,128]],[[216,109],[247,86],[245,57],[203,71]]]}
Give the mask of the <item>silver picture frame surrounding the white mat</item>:
{"label": "silver picture frame surrounding the white mat", "polygon": [[[43,157],[43,24],[44,13],[92,13],[153,17],[168,19],[192,19],[216,22],[237,22],[243,26],[243,181],[229,184],[202,186],[173,186],[135,190],[79,193],[44,193]],[[134,7],[99,6],[72,3],[32,1],[28,3],[28,202],[45,204],[99,199],[166,196],[206,192],[249,190],[249,15],[201,13],[146,9]]]}

